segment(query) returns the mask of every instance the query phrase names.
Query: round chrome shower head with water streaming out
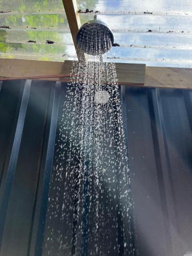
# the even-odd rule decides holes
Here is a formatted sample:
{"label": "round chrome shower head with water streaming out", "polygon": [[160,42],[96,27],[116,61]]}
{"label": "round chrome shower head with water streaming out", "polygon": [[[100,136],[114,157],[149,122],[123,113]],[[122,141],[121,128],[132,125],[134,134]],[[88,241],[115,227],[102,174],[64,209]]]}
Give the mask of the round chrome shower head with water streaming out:
{"label": "round chrome shower head with water streaming out", "polygon": [[77,33],[78,48],[90,55],[108,52],[114,43],[111,29],[95,15],[93,20],[83,24]]}

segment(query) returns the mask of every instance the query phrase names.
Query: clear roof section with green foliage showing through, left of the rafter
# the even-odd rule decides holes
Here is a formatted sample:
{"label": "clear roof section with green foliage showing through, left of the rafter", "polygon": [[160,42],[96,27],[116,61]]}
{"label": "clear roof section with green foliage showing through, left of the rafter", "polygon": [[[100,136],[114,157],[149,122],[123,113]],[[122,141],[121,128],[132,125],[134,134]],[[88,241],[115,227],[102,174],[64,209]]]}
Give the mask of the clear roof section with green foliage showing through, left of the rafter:
{"label": "clear roof section with green foliage showing through, left of the rafter", "polygon": [[0,57],[77,58],[62,0],[0,0]]}

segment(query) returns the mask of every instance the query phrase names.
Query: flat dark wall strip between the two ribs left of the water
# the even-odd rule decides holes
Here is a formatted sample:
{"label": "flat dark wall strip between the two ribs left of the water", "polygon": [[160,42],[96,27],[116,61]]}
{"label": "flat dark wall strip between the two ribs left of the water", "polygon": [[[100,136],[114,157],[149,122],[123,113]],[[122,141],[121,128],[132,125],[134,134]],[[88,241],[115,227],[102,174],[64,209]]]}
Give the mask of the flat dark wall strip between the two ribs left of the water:
{"label": "flat dark wall strip between the two ribs left of the water", "polygon": [[27,255],[49,93],[50,85],[46,82],[33,82],[9,199],[2,255]]}

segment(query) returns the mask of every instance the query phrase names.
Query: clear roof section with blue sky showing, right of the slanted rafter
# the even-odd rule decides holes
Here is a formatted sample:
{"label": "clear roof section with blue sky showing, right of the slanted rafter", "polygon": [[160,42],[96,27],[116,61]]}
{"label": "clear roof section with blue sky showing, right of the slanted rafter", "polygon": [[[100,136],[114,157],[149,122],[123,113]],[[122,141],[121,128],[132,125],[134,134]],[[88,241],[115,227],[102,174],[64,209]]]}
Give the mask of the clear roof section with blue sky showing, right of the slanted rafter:
{"label": "clear roof section with blue sky showing, right of the slanted rafter", "polygon": [[112,29],[120,47],[109,60],[192,68],[191,0],[87,0],[78,8],[82,23],[97,13]]}

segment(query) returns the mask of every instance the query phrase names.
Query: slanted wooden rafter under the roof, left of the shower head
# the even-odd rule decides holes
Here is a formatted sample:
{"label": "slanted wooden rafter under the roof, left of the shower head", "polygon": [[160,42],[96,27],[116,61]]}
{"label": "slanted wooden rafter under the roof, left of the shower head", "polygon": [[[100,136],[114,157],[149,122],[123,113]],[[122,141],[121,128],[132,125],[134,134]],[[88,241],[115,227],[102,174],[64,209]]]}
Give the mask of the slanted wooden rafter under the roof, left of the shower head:
{"label": "slanted wooden rafter under the roof, left of the shower head", "polygon": [[62,0],[63,6],[66,11],[66,16],[68,19],[69,28],[71,30],[71,35],[73,37],[74,46],[77,49],[76,36],[81,27],[79,13],[77,9],[76,0]]}

